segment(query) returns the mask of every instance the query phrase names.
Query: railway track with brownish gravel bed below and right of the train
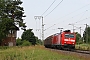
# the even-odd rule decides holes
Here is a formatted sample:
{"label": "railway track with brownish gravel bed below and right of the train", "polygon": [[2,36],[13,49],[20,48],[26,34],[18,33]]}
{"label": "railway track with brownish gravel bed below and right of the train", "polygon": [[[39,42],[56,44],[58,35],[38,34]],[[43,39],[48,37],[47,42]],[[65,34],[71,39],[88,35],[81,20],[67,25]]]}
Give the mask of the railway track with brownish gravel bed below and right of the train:
{"label": "railway track with brownish gravel bed below and right of the train", "polygon": [[50,49],[46,48],[52,52],[56,52],[58,54],[63,54],[63,55],[71,55],[74,57],[78,57],[83,60],[90,60],[90,51],[85,51],[85,50],[59,50],[59,49]]}

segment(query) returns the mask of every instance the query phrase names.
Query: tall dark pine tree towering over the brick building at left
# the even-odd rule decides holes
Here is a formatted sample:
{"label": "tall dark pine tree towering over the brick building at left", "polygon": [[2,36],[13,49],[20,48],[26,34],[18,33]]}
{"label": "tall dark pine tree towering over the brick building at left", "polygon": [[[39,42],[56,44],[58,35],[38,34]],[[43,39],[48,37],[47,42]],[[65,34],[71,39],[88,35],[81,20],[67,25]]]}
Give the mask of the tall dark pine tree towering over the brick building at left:
{"label": "tall dark pine tree towering over the brick building at left", "polygon": [[0,0],[0,41],[16,26],[25,30],[24,9],[20,7],[22,3],[20,0]]}

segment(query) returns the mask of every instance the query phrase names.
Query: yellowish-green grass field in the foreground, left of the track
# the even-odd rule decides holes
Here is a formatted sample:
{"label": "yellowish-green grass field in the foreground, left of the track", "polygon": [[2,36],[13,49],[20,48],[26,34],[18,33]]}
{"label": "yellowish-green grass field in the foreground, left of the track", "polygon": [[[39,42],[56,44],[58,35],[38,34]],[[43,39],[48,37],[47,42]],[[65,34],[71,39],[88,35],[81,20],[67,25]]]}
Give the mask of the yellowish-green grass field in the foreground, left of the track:
{"label": "yellowish-green grass field in the foreground, left of the track", "polygon": [[11,47],[0,50],[0,60],[80,60],[69,55],[52,52],[42,46]]}

